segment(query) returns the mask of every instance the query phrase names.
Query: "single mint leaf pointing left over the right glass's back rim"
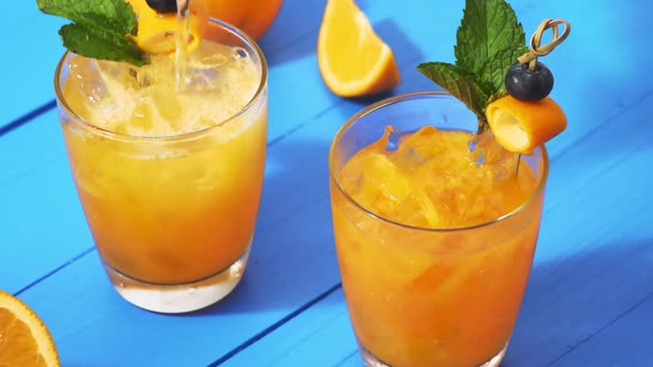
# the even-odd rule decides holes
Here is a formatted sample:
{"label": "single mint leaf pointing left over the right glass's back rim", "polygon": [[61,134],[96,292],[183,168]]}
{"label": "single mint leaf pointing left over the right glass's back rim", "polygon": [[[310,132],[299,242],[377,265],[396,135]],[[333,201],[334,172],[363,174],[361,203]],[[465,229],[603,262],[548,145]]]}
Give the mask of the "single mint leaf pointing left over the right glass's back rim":
{"label": "single mint leaf pointing left over the right glass's back rim", "polygon": [[423,63],[417,70],[465,103],[478,116],[479,124],[485,123],[484,109],[489,95],[468,71],[444,62]]}

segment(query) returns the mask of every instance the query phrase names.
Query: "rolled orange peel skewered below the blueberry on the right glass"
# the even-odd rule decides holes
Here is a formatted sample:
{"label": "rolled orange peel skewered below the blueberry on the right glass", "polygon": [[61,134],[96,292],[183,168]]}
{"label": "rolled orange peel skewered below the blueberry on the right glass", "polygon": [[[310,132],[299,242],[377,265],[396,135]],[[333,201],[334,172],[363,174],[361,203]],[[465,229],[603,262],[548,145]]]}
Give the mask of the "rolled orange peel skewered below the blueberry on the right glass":
{"label": "rolled orange peel skewered below the blueberry on the right glass", "polygon": [[485,116],[504,148],[528,154],[567,128],[567,116],[550,97],[524,102],[506,96],[490,103]]}

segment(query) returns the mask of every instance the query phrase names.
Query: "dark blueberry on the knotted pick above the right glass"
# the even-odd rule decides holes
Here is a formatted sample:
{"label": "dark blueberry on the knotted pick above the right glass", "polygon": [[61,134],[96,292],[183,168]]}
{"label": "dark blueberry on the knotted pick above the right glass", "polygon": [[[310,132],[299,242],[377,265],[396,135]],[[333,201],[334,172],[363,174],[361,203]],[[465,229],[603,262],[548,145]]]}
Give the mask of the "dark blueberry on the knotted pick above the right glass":
{"label": "dark blueberry on the knotted pick above the right glass", "polygon": [[531,71],[528,64],[514,63],[506,73],[506,90],[517,99],[539,101],[551,93],[553,74],[541,62]]}

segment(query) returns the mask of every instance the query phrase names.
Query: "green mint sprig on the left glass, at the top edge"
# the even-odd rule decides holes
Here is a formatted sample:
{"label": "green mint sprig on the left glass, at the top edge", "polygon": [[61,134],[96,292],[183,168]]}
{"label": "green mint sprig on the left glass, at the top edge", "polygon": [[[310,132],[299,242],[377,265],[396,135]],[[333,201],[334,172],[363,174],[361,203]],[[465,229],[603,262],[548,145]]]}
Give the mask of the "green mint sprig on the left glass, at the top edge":
{"label": "green mint sprig on the left glass, at the top edge", "polygon": [[59,34],[70,51],[93,59],[126,61],[136,66],[149,62],[135,42],[136,13],[124,0],[37,0],[39,10],[65,18]]}

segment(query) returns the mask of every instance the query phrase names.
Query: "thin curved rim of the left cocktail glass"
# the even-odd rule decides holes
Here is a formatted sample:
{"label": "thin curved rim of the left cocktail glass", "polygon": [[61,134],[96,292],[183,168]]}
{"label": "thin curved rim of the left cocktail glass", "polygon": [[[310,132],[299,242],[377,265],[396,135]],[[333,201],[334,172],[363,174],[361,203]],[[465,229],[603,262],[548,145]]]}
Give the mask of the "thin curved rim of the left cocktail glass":
{"label": "thin curved rim of the left cocktail glass", "polygon": [[228,32],[235,34],[237,38],[242,40],[248,46],[251,46],[255,54],[260,60],[260,64],[261,64],[261,76],[260,76],[260,80],[258,83],[258,88],[257,88],[256,93],[253,93],[253,95],[247,102],[247,104],[245,104],[245,106],[242,106],[240,109],[238,109],[238,112],[234,113],[232,115],[225,118],[220,123],[205,127],[205,128],[200,128],[198,130],[188,132],[188,133],[153,136],[153,135],[132,135],[132,134],[125,134],[125,133],[117,133],[117,132],[113,132],[107,128],[97,126],[91,122],[87,122],[84,118],[82,118],[76,112],[74,112],[73,108],[71,108],[71,106],[68,104],[66,99],[63,96],[60,77],[62,75],[62,71],[64,69],[65,61],[69,59],[70,55],[74,54],[74,52],[69,51],[69,50],[66,50],[63,53],[63,55],[59,60],[59,63],[56,64],[56,69],[54,71],[54,93],[56,96],[58,105],[60,105],[60,107],[65,111],[66,115],[71,116],[72,119],[76,124],[81,125],[84,128],[89,128],[89,129],[95,130],[96,133],[106,135],[106,136],[114,138],[116,140],[134,139],[134,140],[143,140],[143,141],[167,141],[167,140],[190,139],[190,138],[194,138],[197,136],[203,136],[204,134],[206,134],[213,129],[216,129],[220,126],[224,126],[224,125],[230,123],[231,120],[235,120],[239,116],[243,115],[245,113],[247,113],[248,111],[253,108],[255,104],[263,95],[263,92],[266,91],[266,87],[268,85],[268,63],[267,63],[266,56],[263,54],[263,51],[260,49],[258,43],[249,34],[245,33],[243,31],[236,28],[235,25],[231,25],[227,22],[224,22],[224,21],[215,19],[215,18],[209,18],[208,22],[213,22],[213,23],[219,25],[224,30],[226,29]]}

